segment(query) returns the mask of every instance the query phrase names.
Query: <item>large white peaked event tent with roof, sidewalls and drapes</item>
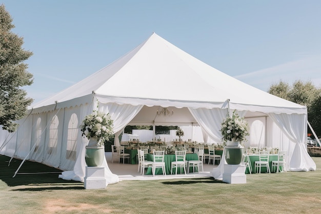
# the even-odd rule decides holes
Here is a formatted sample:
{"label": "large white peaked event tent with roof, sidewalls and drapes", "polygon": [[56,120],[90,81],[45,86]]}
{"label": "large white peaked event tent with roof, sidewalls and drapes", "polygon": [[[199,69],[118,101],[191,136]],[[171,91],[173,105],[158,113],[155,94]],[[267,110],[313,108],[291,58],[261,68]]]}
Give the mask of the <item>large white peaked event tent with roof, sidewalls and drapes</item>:
{"label": "large white peaked event tent with roof, sidewalls and drapes", "polygon": [[[115,144],[126,125],[195,124],[220,142],[218,130],[229,106],[248,120],[265,119],[260,133],[265,136],[263,143],[288,150],[290,170],[316,168],[305,148],[305,106],[240,82],[155,33],[107,67],[35,104],[27,118],[19,121],[17,132],[0,132],[0,152],[70,170],[63,174],[64,179],[83,181],[88,141],[81,137],[78,126],[97,103],[98,110],[109,112],[114,120]],[[174,114],[157,115],[164,107]],[[105,165],[108,168],[107,162]],[[108,183],[118,181],[109,170],[106,177]]]}

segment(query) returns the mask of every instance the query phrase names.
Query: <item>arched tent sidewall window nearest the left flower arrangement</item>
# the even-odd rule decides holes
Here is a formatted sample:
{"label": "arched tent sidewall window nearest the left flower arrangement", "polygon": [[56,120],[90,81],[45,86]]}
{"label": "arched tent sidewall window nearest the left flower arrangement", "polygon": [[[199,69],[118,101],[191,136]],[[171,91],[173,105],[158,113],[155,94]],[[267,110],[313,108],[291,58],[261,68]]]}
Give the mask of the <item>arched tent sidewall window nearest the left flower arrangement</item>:
{"label": "arched tent sidewall window nearest the left flower arrangement", "polygon": [[68,123],[68,136],[67,136],[67,153],[66,159],[75,161],[76,160],[76,142],[78,135],[78,117],[77,114],[73,113],[70,116]]}

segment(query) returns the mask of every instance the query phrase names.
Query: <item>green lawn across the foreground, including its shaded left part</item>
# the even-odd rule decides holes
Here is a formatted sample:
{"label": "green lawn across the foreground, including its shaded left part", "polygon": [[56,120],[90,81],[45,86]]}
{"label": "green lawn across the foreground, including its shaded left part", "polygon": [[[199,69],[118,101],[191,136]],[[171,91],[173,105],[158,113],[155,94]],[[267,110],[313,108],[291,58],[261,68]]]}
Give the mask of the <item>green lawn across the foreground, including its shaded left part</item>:
{"label": "green lawn across the foreground, including its shaded left part", "polygon": [[[213,178],[121,181],[106,189],[58,179],[59,170],[0,155],[0,213],[320,213],[316,171],[248,174],[246,184]],[[24,174],[24,172],[50,172]]]}

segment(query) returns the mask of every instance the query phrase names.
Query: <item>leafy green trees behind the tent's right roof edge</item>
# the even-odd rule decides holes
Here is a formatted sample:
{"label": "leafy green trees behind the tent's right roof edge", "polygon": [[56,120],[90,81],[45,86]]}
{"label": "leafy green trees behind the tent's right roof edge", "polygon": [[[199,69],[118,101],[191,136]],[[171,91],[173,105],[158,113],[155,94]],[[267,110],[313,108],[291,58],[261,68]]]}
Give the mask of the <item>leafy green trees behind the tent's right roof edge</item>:
{"label": "leafy green trees behind the tent's right roof edge", "polygon": [[308,121],[318,136],[321,135],[321,89],[316,88],[311,81],[295,81],[292,86],[280,81],[270,86],[269,93],[299,105],[308,110]]}

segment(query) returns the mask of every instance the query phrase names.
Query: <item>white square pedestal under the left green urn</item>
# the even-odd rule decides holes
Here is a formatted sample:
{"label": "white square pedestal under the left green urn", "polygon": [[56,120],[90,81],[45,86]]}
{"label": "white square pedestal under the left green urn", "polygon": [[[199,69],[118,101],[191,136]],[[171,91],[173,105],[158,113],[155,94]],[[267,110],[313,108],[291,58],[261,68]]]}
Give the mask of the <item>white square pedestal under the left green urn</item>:
{"label": "white square pedestal under the left green urn", "polygon": [[105,167],[86,166],[85,189],[105,189]]}

